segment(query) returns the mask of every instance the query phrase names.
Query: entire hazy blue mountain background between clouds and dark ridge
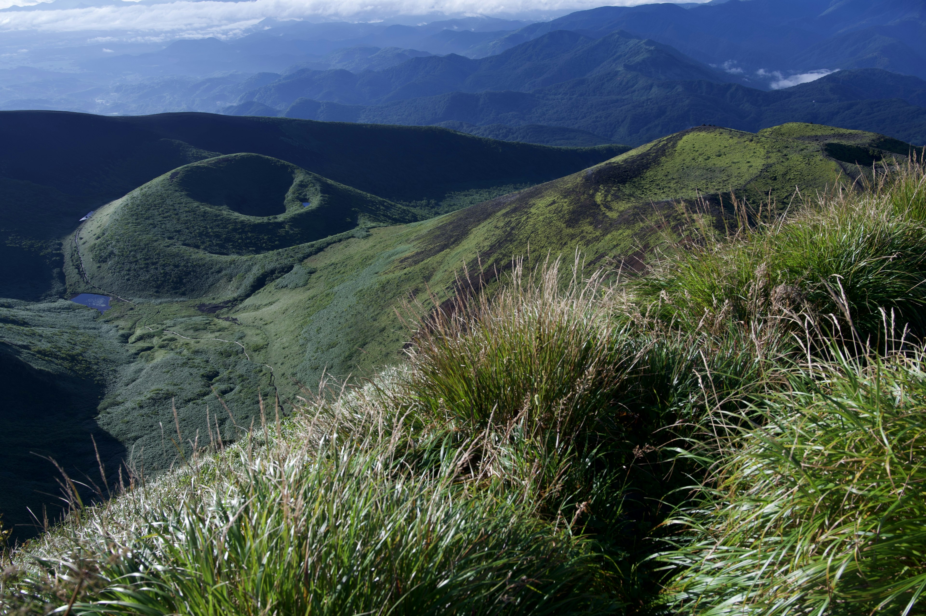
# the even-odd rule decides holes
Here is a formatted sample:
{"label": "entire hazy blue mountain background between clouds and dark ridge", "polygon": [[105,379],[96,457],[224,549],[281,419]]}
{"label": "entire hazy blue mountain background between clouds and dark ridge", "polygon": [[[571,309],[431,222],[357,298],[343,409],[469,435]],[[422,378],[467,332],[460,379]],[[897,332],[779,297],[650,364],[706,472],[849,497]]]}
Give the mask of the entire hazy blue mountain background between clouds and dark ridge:
{"label": "entire hazy blue mountain background between clouds and dark ridge", "polygon": [[528,24],[268,20],[228,42],[104,56],[71,74],[0,71],[0,109],[440,125],[544,145],[805,121],[926,143],[926,0],[601,6]]}

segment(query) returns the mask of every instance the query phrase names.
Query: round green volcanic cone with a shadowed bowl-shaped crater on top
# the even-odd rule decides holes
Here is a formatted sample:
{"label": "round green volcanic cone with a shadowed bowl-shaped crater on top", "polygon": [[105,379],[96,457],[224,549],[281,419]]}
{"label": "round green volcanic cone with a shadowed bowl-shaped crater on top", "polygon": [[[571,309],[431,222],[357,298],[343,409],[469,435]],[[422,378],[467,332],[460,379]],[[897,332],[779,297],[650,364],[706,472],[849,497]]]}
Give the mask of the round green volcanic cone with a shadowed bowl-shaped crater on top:
{"label": "round green volcanic cone with a shadowed bowl-shaped crater on top", "polygon": [[418,218],[276,158],[209,158],[100,208],[66,245],[69,289],[241,295],[317,251],[319,240]]}

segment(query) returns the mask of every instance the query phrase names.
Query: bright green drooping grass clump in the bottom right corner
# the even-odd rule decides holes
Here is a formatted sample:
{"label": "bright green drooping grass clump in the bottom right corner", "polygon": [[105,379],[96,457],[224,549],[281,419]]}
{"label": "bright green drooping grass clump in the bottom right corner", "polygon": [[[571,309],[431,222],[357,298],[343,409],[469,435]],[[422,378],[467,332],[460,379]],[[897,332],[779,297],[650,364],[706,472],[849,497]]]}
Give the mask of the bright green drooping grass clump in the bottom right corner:
{"label": "bright green drooping grass clump in the bottom right corner", "polygon": [[691,543],[663,556],[684,568],[681,613],[922,613],[924,355],[863,359],[800,375],[726,443],[703,507],[676,521]]}

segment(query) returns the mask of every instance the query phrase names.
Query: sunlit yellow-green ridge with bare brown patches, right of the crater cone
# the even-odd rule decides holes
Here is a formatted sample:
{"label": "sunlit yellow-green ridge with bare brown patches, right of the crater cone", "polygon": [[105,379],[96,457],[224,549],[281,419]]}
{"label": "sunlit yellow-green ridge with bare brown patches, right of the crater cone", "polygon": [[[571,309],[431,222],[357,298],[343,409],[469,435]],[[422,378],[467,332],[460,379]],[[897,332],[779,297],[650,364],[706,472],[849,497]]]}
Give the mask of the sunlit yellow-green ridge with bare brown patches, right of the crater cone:
{"label": "sunlit yellow-green ridge with bare brown patches, right of the crater cone", "polygon": [[731,192],[784,207],[795,190],[850,182],[859,168],[848,159],[901,151],[909,147],[881,135],[814,125],[760,134],[699,127],[514,195],[331,245],[303,264],[315,272],[304,286],[267,285],[223,314],[265,331],[267,362],[299,381],[313,383],[322,370],[372,371],[407,342],[394,308],[409,296],[451,295],[464,264],[476,281],[514,256],[576,250],[589,265],[639,268],[648,251],[684,233],[681,202],[706,196],[720,224]]}

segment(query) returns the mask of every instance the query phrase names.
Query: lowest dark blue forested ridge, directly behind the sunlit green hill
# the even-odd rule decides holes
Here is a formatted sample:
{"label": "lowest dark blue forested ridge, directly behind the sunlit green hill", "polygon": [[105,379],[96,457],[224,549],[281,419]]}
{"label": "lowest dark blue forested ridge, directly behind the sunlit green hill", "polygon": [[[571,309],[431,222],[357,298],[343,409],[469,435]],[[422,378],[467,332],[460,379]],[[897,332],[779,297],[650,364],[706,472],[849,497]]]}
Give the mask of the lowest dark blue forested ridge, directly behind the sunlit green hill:
{"label": "lowest dark blue forested ridge, directly behind the sunlit green hill", "polygon": [[701,124],[755,132],[804,121],[882,132],[919,145],[926,143],[924,92],[923,80],[881,69],[839,71],[771,92],[738,83],[660,81],[619,70],[532,92],[454,92],[377,106],[304,99],[284,115],[409,125],[542,124],[630,145]]}

